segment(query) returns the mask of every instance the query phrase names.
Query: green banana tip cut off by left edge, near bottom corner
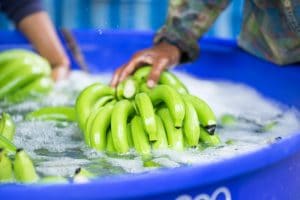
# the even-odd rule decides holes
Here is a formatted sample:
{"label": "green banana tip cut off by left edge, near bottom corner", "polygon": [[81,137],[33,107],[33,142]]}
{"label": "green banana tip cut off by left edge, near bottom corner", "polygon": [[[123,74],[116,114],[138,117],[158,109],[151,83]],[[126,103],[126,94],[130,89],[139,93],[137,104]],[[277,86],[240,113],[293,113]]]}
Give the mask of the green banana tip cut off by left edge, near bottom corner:
{"label": "green banana tip cut off by left edge, near bottom corner", "polygon": [[12,163],[4,149],[0,149],[0,183],[12,182],[13,180],[14,174],[12,169]]}

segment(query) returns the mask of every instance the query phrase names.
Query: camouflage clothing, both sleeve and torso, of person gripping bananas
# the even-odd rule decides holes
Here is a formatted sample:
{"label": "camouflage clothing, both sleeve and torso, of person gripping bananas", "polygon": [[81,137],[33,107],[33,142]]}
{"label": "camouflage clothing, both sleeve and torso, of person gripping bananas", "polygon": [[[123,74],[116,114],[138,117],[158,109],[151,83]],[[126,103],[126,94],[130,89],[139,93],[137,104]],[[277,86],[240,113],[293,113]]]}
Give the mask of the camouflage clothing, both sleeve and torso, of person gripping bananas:
{"label": "camouflage clothing, both sleeve and torso, of person gripping bananas", "polygon": [[[170,0],[168,18],[154,43],[167,41],[182,52],[181,62],[198,57],[198,39],[230,0]],[[300,61],[300,0],[245,0],[238,44],[284,65]]]}

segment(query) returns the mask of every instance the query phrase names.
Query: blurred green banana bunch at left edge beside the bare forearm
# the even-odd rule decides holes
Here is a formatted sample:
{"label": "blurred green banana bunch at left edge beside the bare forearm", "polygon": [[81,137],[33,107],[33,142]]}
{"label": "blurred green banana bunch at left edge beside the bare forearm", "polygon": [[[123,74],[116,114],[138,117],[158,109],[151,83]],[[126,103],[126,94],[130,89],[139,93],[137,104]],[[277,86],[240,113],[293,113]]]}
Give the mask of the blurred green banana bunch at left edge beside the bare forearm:
{"label": "blurred green banana bunch at left edge beside the bare forearm", "polygon": [[0,53],[0,100],[20,102],[48,93],[53,87],[48,61],[27,50]]}

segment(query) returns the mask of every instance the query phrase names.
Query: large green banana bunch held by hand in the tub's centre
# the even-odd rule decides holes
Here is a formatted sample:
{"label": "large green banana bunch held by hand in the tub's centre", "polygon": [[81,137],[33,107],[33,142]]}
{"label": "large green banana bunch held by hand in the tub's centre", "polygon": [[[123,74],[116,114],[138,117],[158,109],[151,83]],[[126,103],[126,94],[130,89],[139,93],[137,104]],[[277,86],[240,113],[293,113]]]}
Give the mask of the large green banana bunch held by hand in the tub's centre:
{"label": "large green banana bunch held by hand in the tub's centre", "polygon": [[152,149],[218,145],[216,117],[206,102],[189,94],[168,71],[148,88],[150,70],[138,69],[116,89],[95,83],[80,93],[75,110],[86,144],[115,153],[135,148],[141,155]]}

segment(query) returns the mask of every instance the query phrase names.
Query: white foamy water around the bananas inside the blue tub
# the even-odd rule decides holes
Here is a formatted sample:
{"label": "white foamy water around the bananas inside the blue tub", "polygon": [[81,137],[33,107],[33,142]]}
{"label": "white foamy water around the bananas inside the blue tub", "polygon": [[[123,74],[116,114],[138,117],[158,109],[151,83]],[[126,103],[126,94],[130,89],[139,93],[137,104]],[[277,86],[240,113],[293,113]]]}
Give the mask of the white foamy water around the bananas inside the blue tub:
{"label": "white foamy water around the bananas inside the blue tub", "polygon": [[[247,154],[264,148],[278,139],[300,130],[299,112],[265,99],[254,89],[231,82],[207,81],[187,74],[176,75],[191,94],[204,99],[219,119],[231,114],[238,120],[231,126],[217,128],[222,144],[203,150],[155,150],[153,161],[163,168],[182,165],[209,164]],[[142,173],[153,167],[144,167],[143,160],[133,150],[127,155],[107,155],[88,148],[76,123],[25,121],[24,114],[43,106],[74,105],[79,92],[94,82],[108,83],[111,74],[92,76],[74,71],[68,80],[56,84],[54,91],[39,101],[5,105],[0,112],[8,112],[17,124],[14,143],[24,148],[33,158],[41,176],[71,177],[78,167],[85,167],[97,176],[124,173]],[[269,131],[263,128],[274,123]]]}

